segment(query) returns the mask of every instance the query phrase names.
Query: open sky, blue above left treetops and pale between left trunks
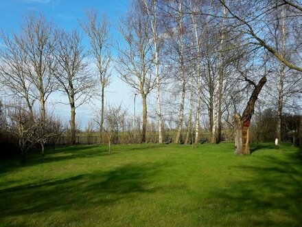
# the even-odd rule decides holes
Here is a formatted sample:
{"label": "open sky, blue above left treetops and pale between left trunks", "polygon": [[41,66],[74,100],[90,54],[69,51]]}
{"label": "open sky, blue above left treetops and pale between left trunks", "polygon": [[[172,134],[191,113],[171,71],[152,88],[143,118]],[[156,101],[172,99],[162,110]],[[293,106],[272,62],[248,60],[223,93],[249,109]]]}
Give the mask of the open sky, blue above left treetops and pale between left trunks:
{"label": "open sky, blue above left treetops and pale between left trunks", "polygon": [[[123,17],[129,9],[130,0],[1,0],[0,4],[0,29],[6,32],[19,31],[23,17],[28,12],[41,12],[50,21],[60,28],[71,30],[79,28],[78,20],[84,19],[85,9],[96,9],[100,14],[104,13],[111,21],[111,34],[115,42],[119,42],[121,37],[116,28],[120,17]],[[84,39],[84,43],[88,43]],[[0,47],[3,45],[0,41]],[[135,91],[121,81],[117,73],[113,70],[111,85],[107,87],[105,94],[106,104],[119,105],[128,109],[132,114],[134,109]],[[69,120],[69,105],[67,98],[56,93],[47,100],[47,109],[60,116],[63,121]],[[137,112],[141,105],[139,97],[136,101]],[[95,99],[90,105],[82,105],[76,111],[76,120],[80,122],[81,129],[85,129],[87,122],[91,120],[97,111],[100,101]]]}

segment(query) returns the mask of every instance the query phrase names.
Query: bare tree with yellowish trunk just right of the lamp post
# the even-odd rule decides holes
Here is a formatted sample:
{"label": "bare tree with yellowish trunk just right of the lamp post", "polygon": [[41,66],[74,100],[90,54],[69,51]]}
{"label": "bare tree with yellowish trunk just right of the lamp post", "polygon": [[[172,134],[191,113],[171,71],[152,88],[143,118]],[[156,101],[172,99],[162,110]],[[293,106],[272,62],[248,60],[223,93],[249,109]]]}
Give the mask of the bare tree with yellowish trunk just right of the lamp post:
{"label": "bare tree with yellowish trunk just right of the lamp post", "polygon": [[147,96],[156,85],[152,76],[153,54],[150,40],[152,34],[148,31],[149,20],[141,12],[140,2],[135,2],[126,20],[122,20],[120,32],[124,38],[124,48],[117,47],[119,56],[115,69],[121,80],[141,94],[143,104],[143,127],[141,142],[146,142],[147,130]]}

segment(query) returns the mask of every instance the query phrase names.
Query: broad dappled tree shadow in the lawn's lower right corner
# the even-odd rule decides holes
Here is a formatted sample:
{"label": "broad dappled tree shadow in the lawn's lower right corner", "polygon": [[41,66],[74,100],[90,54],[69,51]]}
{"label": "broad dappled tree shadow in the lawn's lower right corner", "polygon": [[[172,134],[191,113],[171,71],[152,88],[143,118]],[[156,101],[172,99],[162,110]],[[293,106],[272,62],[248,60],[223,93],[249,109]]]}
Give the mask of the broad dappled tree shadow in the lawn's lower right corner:
{"label": "broad dappled tree shadow in the lawn's lower right corner", "polygon": [[251,226],[302,226],[302,163],[299,152],[286,155],[263,157],[267,165],[235,166],[246,178],[213,191],[216,204],[225,208],[222,215],[239,213],[238,226],[246,226],[246,219]]}

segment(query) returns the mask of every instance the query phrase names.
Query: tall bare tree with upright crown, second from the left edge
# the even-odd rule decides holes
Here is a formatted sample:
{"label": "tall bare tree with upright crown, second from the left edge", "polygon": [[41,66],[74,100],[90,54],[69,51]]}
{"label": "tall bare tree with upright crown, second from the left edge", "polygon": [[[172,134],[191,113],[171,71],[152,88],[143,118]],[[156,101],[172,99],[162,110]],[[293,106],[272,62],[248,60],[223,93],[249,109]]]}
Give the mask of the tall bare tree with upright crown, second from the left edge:
{"label": "tall bare tree with upright crown, second from the left edge", "polygon": [[36,88],[43,120],[46,118],[45,102],[56,85],[51,74],[55,63],[51,54],[54,46],[53,26],[42,14],[36,16],[30,13],[25,17],[21,32],[17,42],[25,54],[25,74]]}

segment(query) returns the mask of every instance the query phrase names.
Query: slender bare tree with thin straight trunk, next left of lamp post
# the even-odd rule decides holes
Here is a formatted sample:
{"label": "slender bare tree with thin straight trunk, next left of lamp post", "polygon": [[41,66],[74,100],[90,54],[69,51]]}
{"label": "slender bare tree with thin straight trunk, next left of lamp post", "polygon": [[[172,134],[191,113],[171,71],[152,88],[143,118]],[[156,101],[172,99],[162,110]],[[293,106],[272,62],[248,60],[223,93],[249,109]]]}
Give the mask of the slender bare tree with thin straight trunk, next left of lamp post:
{"label": "slender bare tree with thin straight trunk, next left of lamp post", "polygon": [[[101,19],[98,18],[97,11],[86,10],[86,17],[88,21],[86,23],[81,23],[80,25],[86,36],[89,37],[91,54],[95,59],[95,64],[97,66],[97,72],[101,87],[101,127],[102,130],[104,122],[104,98],[105,98],[105,88],[110,83],[111,71],[111,37],[109,35],[110,25],[105,15],[102,15]],[[102,138],[102,131],[101,131]]]}

